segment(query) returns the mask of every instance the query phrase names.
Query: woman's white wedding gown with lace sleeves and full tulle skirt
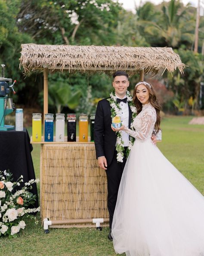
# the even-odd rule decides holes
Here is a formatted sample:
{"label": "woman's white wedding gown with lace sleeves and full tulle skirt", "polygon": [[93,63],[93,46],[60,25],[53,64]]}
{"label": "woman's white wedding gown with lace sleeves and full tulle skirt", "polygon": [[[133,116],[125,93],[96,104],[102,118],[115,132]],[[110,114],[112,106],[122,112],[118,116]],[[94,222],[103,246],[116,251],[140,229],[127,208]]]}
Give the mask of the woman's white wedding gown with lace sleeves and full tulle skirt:
{"label": "woman's white wedding gown with lace sleeves and full tulle skirt", "polygon": [[204,197],[151,141],[150,103],[133,122],[136,138],[124,168],[112,224],[116,253],[204,256]]}

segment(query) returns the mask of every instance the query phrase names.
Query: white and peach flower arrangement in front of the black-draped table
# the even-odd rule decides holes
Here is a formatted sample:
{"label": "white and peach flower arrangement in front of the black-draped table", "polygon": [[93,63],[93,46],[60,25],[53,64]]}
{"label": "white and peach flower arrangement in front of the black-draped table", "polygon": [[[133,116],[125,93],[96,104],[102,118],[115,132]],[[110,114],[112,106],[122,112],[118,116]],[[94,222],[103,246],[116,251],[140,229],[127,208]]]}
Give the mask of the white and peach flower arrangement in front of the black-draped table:
{"label": "white and peach flower arrangement in front of the black-draped table", "polygon": [[40,211],[38,208],[28,208],[36,201],[36,195],[33,195],[29,189],[31,184],[39,182],[39,179],[31,179],[25,182],[25,186],[12,193],[13,189],[20,186],[23,182],[23,176],[16,182],[12,182],[12,173],[9,171],[0,171],[0,236],[17,237],[17,233],[24,229],[26,224],[22,219],[30,217],[37,224],[36,217],[30,213]]}

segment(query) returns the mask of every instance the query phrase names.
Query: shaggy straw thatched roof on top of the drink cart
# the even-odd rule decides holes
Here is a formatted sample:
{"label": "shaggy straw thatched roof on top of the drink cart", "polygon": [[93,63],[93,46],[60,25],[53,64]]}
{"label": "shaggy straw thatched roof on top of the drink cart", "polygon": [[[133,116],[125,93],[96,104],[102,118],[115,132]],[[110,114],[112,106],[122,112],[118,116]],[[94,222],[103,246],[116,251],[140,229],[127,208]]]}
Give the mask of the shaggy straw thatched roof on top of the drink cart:
{"label": "shaggy straw thatched roof on top of the drink cart", "polygon": [[50,71],[73,70],[92,72],[126,70],[131,74],[144,69],[145,73],[160,70],[183,72],[185,65],[172,48],[81,46],[81,45],[35,45],[23,44],[20,66],[25,72],[44,67]]}

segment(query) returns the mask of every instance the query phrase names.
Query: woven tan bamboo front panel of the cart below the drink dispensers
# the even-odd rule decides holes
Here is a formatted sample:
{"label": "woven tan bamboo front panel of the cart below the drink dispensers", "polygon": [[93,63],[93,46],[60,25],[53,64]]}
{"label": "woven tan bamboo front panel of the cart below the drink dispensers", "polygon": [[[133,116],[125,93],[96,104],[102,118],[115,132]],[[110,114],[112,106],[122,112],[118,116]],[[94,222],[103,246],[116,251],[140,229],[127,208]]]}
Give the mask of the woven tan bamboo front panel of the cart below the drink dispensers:
{"label": "woven tan bamboo front panel of the cart below the drink dispensers", "polygon": [[106,174],[94,144],[42,144],[40,157],[42,220],[108,218]]}

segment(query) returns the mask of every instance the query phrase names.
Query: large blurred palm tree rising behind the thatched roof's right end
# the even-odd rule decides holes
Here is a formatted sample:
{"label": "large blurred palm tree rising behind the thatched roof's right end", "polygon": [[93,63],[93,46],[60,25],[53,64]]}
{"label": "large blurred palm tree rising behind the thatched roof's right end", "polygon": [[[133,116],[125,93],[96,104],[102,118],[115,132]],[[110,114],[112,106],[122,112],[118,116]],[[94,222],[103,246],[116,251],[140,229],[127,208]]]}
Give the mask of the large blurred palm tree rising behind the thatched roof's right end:
{"label": "large blurred palm tree rising behind the thatched roof's right end", "polygon": [[[148,7],[146,8],[148,10],[148,13],[146,13],[147,18],[145,18],[141,10],[137,12],[140,16],[141,13],[143,14],[142,19],[138,16],[138,24],[151,41],[152,46],[179,48],[182,44],[187,44],[188,48],[191,47],[194,37],[195,20],[187,12],[189,6],[184,7],[179,0],[171,0],[169,3],[163,2],[160,15],[157,12],[155,16],[152,16],[152,9],[155,6],[150,8],[149,5]],[[148,14],[151,15],[151,20]]]}

